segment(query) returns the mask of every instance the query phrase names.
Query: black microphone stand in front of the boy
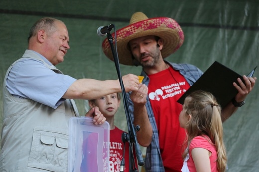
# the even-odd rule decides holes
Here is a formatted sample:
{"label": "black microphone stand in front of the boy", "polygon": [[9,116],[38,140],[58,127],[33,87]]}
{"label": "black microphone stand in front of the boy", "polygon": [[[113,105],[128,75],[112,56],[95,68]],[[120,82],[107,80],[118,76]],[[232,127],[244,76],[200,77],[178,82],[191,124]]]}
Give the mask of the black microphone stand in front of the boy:
{"label": "black microphone stand in front of the boy", "polygon": [[[109,28],[109,31],[107,33],[107,40],[108,40],[108,42],[110,44],[110,47],[111,47],[111,50],[112,50],[116,71],[117,71],[119,82],[120,82],[120,86],[121,86],[121,89],[122,89],[122,97],[123,97],[123,102],[124,102],[124,109],[125,109],[125,113],[126,113],[126,119],[127,119],[127,124],[128,124],[128,131],[129,131],[129,137],[128,137],[129,146],[131,145],[131,143],[134,143],[133,145],[135,147],[135,152],[136,152],[136,157],[137,157],[138,165],[139,166],[143,166],[144,165],[144,160],[143,160],[142,152],[141,152],[141,149],[140,149],[140,145],[139,145],[139,143],[137,141],[137,137],[136,137],[136,130],[139,131],[140,127],[139,126],[134,127],[132,119],[131,119],[131,116],[130,116],[129,104],[128,104],[128,101],[127,101],[127,96],[126,96],[125,88],[124,88],[123,81],[122,81],[122,76],[121,76],[120,67],[119,67],[118,54],[117,54],[117,49],[116,49],[116,47],[117,47],[116,46],[117,45],[116,44],[116,30],[114,32],[114,35],[115,35],[115,48],[114,48],[114,45],[113,45],[113,37],[110,34],[111,30],[112,30],[112,28],[111,29]],[[132,152],[132,151],[130,151],[130,152]],[[133,152],[129,153],[129,160],[132,160],[134,162],[134,158],[133,158],[132,155],[133,155]],[[131,161],[129,161],[129,162],[131,162]],[[129,167],[131,169],[131,163],[129,164]],[[131,170],[129,172],[131,172]],[[137,172],[137,170],[135,172]]]}

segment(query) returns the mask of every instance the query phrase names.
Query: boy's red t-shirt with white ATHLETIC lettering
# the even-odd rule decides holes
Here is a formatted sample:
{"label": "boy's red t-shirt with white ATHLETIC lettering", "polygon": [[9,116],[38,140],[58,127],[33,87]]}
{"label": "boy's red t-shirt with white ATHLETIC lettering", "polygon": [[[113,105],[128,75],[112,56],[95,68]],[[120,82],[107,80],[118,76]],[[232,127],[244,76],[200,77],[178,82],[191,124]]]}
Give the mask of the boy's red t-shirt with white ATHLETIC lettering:
{"label": "boy's red t-shirt with white ATHLETIC lettering", "polygon": [[[120,164],[123,158],[123,147],[124,143],[122,142],[122,133],[124,131],[115,127],[115,129],[110,130],[110,163],[109,163],[109,172],[120,172]],[[129,172],[129,143],[126,143],[125,147],[125,169],[124,172]],[[137,166],[136,156],[134,154],[135,163]]]}

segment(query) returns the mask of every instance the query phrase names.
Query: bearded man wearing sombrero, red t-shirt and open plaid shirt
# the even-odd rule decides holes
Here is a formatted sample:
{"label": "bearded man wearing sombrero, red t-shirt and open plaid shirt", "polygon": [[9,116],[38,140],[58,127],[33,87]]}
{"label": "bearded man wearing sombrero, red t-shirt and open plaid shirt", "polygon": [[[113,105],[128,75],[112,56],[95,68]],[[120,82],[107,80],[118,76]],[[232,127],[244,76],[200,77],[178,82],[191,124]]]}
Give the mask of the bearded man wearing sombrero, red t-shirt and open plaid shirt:
{"label": "bearded man wearing sombrero, red t-shirt and open plaid shirt", "polygon": [[[129,25],[119,29],[116,34],[119,62],[124,65],[141,65],[143,83],[148,86],[146,108],[153,136],[151,143],[149,139],[145,143],[141,141],[142,146],[148,145],[146,172],[181,172],[182,144],[186,133],[180,128],[178,120],[182,105],[176,101],[203,73],[193,65],[164,60],[179,49],[184,40],[181,27],[171,18],[149,19],[142,12],[137,12],[132,15]],[[102,48],[105,55],[113,60],[107,39],[103,41]],[[244,101],[253,89],[256,78],[244,76],[243,79],[245,83],[238,80],[240,86],[233,84],[238,90],[236,102]],[[131,114],[140,115],[134,109],[129,96],[130,93],[128,101]],[[222,121],[229,118],[236,109],[237,104],[234,106],[229,103],[223,109]],[[134,124],[141,127],[142,121],[135,119]],[[138,138],[143,135],[144,132],[137,133]]]}

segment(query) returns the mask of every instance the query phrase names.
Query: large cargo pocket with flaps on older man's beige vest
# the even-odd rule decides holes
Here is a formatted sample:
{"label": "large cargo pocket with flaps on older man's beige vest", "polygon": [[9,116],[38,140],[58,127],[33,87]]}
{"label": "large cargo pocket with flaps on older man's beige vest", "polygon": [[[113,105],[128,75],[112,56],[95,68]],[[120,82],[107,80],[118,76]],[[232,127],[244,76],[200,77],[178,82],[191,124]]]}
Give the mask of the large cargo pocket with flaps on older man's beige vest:
{"label": "large cargo pocket with flaps on older man's beige vest", "polygon": [[68,135],[60,128],[36,127],[33,131],[28,166],[55,172],[66,172],[67,161]]}

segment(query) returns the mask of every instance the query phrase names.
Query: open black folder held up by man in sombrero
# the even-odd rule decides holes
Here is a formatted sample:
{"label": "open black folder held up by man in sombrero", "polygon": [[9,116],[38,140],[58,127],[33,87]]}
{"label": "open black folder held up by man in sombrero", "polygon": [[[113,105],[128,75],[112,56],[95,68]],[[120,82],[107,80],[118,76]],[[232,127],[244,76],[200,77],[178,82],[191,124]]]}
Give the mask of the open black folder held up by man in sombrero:
{"label": "open black folder held up by man in sombrero", "polygon": [[[247,76],[252,77],[256,68]],[[183,104],[185,97],[191,92],[204,90],[211,92],[221,107],[224,108],[238,93],[237,89],[233,86],[233,82],[237,83],[237,78],[240,78],[244,82],[241,75],[215,61],[177,102]]]}

